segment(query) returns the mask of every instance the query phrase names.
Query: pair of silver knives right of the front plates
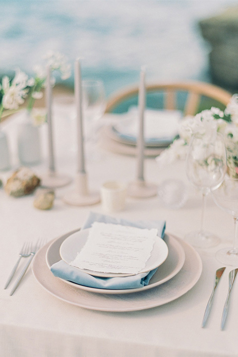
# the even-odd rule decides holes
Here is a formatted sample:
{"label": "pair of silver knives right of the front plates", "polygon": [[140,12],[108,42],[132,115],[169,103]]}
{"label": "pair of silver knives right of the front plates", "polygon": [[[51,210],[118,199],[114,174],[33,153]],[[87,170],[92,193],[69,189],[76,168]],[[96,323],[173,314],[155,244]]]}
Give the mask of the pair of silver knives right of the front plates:
{"label": "pair of silver knives right of the front plates", "polygon": [[[220,279],[221,279],[225,269],[226,268],[223,267],[223,268],[220,268],[220,269],[218,269],[216,271],[215,283],[214,283],[214,287],[213,287],[213,290],[212,290],[212,294],[209,297],[209,300],[208,300],[208,303],[207,303],[207,306],[206,306],[206,309],[205,309],[205,313],[204,313],[203,320],[202,320],[202,327],[205,327],[205,325],[206,325],[207,318],[208,318],[209,313],[211,311],[212,301],[213,301],[213,298],[214,298],[214,295],[215,295],[216,288],[218,286],[218,283],[220,282]],[[226,302],[225,302],[225,305],[224,305],[224,308],[223,308],[221,330],[224,330],[224,327],[225,327],[225,322],[226,322],[228,308],[229,308],[229,302],[230,302],[230,296],[231,296],[232,288],[233,288],[237,273],[238,273],[238,268],[231,270],[230,273],[229,273],[229,291],[228,291]]]}

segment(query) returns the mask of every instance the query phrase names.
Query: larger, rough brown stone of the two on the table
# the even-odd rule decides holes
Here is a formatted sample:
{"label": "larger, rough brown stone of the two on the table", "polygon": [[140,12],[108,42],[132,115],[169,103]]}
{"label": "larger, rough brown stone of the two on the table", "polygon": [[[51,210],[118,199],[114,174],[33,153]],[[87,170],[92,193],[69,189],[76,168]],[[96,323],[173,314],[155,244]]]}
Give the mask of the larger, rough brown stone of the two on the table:
{"label": "larger, rough brown stone of the two on the table", "polygon": [[32,193],[40,183],[31,169],[21,167],[7,179],[4,189],[8,195],[20,197]]}

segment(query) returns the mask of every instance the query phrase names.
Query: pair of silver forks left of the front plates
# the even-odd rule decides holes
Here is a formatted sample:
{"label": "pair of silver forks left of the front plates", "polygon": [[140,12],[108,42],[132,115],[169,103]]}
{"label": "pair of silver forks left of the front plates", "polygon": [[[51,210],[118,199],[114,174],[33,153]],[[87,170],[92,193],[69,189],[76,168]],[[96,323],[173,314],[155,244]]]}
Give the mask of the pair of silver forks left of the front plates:
{"label": "pair of silver forks left of the front plates", "polygon": [[28,260],[27,260],[26,265],[20,272],[19,276],[17,277],[17,280],[16,280],[13,288],[11,289],[10,295],[12,295],[14,293],[14,291],[17,289],[17,287],[20,284],[23,276],[25,275],[29,265],[31,264],[32,259],[34,258],[36,252],[40,249],[40,247],[42,245],[43,245],[43,241],[40,239],[38,239],[36,243],[25,242],[23,244],[21,251],[19,252],[19,258],[18,258],[16,264],[14,265],[14,267],[5,283],[4,289],[6,289],[8,287],[8,285],[10,284],[10,282],[16,272],[16,269],[20,263],[21,258],[28,258]]}

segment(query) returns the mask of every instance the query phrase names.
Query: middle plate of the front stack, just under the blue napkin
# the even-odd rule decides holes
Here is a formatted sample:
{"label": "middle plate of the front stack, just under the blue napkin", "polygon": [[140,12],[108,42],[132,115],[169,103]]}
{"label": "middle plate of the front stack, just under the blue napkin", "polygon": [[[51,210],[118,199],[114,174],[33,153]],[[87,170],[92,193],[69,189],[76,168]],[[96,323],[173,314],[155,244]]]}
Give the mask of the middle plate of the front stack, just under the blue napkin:
{"label": "middle plate of the front stack, just under the blue napkin", "polygon": [[[99,289],[99,288],[91,288],[91,287],[79,285],[70,281],[66,281],[64,279],[61,280],[64,283],[71,285],[76,289],[82,289],[82,290],[89,291],[91,293],[98,293],[98,294],[127,294],[127,293],[135,293],[135,292],[140,292],[140,291],[154,288],[172,279],[182,268],[185,260],[184,249],[182,248],[181,244],[176,238],[169,235],[165,235],[165,241],[167,243],[167,246],[169,247],[168,257],[166,261],[159,267],[159,269],[156,271],[153,277],[150,279],[150,282],[147,286],[141,288],[134,288],[134,289],[117,289],[117,290]],[[49,269],[54,263],[58,262],[61,259],[60,252],[59,252],[61,242],[62,242],[62,238],[60,237],[54,240],[47,249],[46,261]]]}

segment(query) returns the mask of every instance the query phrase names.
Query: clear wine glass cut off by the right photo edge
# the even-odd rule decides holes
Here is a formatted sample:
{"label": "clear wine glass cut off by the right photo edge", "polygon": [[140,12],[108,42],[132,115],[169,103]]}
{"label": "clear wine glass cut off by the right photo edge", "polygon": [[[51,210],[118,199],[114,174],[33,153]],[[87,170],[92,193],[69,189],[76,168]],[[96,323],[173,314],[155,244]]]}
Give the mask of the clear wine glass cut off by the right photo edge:
{"label": "clear wine glass cut off by the right photo edge", "polygon": [[238,179],[226,178],[220,187],[211,190],[214,202],[225,212],[233,216],[233,246],[216,252],[216,258],[223,264],[238,266]]}

